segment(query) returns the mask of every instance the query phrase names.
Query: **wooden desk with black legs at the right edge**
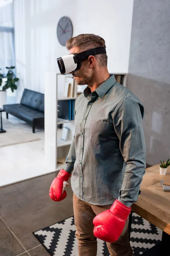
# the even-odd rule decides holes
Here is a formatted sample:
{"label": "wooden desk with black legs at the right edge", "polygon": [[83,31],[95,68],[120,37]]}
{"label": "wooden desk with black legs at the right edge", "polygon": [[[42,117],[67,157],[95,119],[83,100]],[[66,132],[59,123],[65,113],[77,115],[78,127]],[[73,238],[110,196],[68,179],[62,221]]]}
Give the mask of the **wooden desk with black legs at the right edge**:
{"label": "wooden desk with black legs at the right edge", "polygon": [[[167,174],[170,175],[170,167]],[[164,175],[159,175],[159,164],[146,169],[141,183],[141,194],[138,201],[132,205],[132,211],[142,218],[163,230],[162,241],[142,255],[170,255],[170,192],[164,192],[160,180]],[[168,235],[167,235],[168,234]],[[165,245],[166,244],[166,245]],[[162,246],[169,250],[165,253]]]}

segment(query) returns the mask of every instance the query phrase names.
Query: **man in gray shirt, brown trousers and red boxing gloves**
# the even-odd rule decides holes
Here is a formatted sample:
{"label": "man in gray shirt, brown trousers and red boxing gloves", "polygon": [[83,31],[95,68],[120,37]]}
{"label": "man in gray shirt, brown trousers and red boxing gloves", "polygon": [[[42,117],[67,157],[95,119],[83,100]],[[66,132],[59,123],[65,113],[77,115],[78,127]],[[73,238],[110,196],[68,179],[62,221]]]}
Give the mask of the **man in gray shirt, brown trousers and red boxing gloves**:
{"label": "man in gray shirt, brown trousers and red boxing gloves", "polygon": [[71,73],[77,84],[88,87],[77,98],[74,140],[64,169],[51,183],[50,197],[63,200],[71,176],[79,256],[96,256],[96,237],[107,242],[111,256],[132,256],[128,216],[146,168],[144,107],[110,76],[106,53],[96,53],[104,46],[104,39],[93,34],[66,43],[70,54],[86,51],[81,67]]}

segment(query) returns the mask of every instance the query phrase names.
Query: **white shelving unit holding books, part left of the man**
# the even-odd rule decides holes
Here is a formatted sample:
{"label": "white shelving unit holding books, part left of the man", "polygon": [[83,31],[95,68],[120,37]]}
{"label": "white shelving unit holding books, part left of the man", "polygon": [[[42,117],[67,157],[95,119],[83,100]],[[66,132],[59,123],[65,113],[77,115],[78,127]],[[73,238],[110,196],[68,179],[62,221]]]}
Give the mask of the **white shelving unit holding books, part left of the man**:
{"label": "white shelving unit holding books, part left of the man", "polygon": [[[45,74],[45,163],[51,172],[64,167],[65,158],[68,154],[72,139],[74,137],[74,120],[58,118],[58,101],[77,99],[77,84],[74,81],[73,97],[65,97],[65,78],[72,75],[61,75],[56,73]],[[62,128],[59,128],[62,125]],[[69,129],[68,140],[62,140],[62,129]],[[61,161],[61,163],[58,162]]]}

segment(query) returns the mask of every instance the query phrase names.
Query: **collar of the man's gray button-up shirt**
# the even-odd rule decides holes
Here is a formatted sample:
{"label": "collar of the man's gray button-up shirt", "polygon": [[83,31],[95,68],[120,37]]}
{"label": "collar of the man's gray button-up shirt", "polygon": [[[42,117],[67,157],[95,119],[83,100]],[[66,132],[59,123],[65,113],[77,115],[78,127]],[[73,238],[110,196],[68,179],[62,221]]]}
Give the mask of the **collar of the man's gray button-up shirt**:
{"label": "collar of the man's gray button-up shirt", "polygon": [[[95,90],[99,95],[100,99],[107,93],[107,91],[115,84],[116,79],[114,75],[111,75],[104,83],[100,84],[100,86]],[[84,90],[84,96],[87,97],[91,93],[91,89],[87,86]]]}

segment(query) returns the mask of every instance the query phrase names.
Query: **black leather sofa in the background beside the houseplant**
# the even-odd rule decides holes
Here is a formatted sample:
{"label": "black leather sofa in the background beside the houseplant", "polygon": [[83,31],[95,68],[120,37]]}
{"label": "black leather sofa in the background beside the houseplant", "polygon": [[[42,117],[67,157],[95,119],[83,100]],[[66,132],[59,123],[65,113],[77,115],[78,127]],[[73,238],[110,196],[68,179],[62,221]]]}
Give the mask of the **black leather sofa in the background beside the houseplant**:
{"label": "black leather sofa in the background beside the houseplant", "polygon": [[32,132],[35,133],[37,125],[44,126],[44,94],[33,90],[24,89],[20,104],[3,105],[8,113],[28,122],[32,125]]}

